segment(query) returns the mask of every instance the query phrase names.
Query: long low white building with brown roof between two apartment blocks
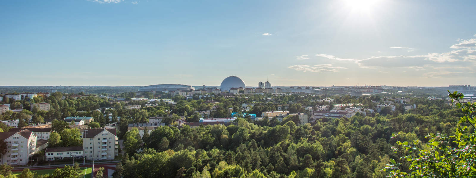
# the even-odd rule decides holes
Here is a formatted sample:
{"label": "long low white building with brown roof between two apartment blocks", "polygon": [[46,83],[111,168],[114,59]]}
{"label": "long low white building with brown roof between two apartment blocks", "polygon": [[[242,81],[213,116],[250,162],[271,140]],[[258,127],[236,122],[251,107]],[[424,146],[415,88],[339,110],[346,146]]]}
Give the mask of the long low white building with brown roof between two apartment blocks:
{"label": "long low white building with brown roof between two apartment blocks", "polygon": [[46,160],[64,159],[65,157],[82,158],[83,147],[57,147],[45,150]]}

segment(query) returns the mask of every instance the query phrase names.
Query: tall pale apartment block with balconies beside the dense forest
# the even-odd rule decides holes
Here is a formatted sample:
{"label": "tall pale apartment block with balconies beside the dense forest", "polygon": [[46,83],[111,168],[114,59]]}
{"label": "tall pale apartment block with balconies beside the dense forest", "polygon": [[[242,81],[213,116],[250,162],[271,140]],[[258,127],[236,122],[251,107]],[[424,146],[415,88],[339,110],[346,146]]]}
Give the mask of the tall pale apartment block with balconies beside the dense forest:
{"label": "tall pale apartment block with balconies beside the dense forest", "polygon": [[83,157],[87,160],[112,160],[118,155],[116,129],[85,129]]}

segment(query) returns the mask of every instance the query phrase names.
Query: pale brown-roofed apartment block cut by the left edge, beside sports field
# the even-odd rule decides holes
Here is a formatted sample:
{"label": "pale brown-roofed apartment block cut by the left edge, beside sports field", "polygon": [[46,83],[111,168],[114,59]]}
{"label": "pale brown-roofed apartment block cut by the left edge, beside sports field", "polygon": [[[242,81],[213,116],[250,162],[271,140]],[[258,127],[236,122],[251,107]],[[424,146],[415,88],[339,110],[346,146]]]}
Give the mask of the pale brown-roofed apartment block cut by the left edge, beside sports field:
{"label": "pale brown-roofed apartment block cut by the left edge, beside sports field", "polygon": [[36,136],[31,131],[0,132],[0,140],[7,142],[7,152],[0,164],[26,165],[36,150]]}

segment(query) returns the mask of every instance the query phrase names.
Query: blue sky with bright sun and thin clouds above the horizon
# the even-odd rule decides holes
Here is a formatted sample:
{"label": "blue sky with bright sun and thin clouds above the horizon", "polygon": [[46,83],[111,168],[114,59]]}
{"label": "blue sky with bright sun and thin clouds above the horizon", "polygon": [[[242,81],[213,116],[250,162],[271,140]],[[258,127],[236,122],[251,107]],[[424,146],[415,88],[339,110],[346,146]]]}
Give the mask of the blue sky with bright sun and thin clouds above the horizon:
{"label": "blue sky with bright sun and thin clouds above the horizon", "polygon": [[0,6],[0,85],[476,85],[476,1]]}

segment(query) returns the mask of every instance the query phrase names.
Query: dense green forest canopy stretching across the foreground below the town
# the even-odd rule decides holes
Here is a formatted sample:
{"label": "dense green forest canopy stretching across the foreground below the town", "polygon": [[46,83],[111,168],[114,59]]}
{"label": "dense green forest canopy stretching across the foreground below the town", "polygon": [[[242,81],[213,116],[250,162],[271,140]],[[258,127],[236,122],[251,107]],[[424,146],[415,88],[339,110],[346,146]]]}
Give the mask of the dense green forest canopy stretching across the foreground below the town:
{"label": "dense green forest canopy stretching across the foreground below the town", "polygon": [[[414,102],[425,110],[324,118],[300,126],[292,118],[280,123],[241,118],[229,126],[159,127],[143,138],[133,130],[125,135],[125,156],[115,176],[383,178],[387,164],[405,154],[394,151],[402,143],[421,141],[417,147],[424,148],[432,141],[427,135],[453,135],[465,116],[442,100]],[[144,151],[136,153],[141,143]],[[410,170],[401,163],[399,169]]]}

